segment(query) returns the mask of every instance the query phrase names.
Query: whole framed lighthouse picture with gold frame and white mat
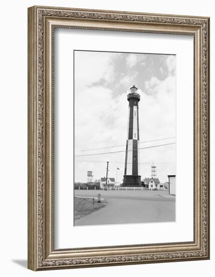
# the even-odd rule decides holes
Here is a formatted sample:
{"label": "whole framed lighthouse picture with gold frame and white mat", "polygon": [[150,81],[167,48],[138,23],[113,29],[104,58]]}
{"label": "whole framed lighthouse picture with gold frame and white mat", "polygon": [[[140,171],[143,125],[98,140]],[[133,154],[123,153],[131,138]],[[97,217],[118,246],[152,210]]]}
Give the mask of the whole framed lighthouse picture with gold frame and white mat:
{"label": "whole framed lighthouse picture with gold frame and white mat", "polygon": [[209,259],[209,18],[28,9],[28,268]]}

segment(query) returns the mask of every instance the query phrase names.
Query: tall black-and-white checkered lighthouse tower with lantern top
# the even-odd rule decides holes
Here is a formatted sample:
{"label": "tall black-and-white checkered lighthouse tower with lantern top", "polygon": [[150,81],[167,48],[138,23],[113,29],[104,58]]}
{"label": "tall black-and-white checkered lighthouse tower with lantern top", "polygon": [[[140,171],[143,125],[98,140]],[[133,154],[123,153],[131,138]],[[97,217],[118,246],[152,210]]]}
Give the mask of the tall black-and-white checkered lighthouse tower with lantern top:
{"label": "tall black-and-white checkered lighthouse tower with lantern top", "polygon": [[138,102],[140,95],[135,85],[130,88],[127,95],[128,106],[128,127],[125,151],[125,171],[122,186],[141,186],[139,175],[139,117]]}

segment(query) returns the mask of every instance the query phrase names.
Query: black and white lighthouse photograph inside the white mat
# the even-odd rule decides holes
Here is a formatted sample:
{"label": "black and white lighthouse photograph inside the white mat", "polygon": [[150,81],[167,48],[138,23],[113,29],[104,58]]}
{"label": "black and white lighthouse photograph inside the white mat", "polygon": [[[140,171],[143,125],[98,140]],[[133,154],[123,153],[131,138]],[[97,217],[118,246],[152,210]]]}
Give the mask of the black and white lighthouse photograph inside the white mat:
{"label": "black and white lighthouse photograph inside the white mat", "polygon": [[176,55],[74,50],[74,226],[175,222]]}

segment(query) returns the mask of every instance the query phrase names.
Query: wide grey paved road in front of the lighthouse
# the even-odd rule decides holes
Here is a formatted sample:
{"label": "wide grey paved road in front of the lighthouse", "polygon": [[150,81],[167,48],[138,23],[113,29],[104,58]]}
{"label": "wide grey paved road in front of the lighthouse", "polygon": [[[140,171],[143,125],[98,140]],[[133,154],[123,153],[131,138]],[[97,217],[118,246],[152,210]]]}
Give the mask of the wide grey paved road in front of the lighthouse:
{"label": "wide grey paved road in front of the lighthouse", "polygon": [[98,193],[108,204],[77,220],[75,226],[175,221],[175,197],[168,197],[167,191],[75,190],[75,196]]}

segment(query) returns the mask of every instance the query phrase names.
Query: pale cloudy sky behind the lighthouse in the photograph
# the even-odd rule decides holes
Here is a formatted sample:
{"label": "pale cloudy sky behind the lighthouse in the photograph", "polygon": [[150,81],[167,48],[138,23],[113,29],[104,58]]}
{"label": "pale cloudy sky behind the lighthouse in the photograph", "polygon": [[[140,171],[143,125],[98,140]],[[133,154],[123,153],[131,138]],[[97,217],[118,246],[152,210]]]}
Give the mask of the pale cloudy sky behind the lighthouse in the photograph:
{"label": "pale cloudy sky behind the lighthouse in the photograph", "polygon": [[[93,180],[106,176],[109,161],[108,177],[122,183],[133,85],[140,95],[139,148],[176,142],[175,55],[76,50],[74,68],[75,182],[87,182],[88,170]],[[115,151],[122,152],[109,153]],[[153,162],[160,182],[168,181],[176,173],[176,145],[140,149],[141,180],[151,177]]]}

